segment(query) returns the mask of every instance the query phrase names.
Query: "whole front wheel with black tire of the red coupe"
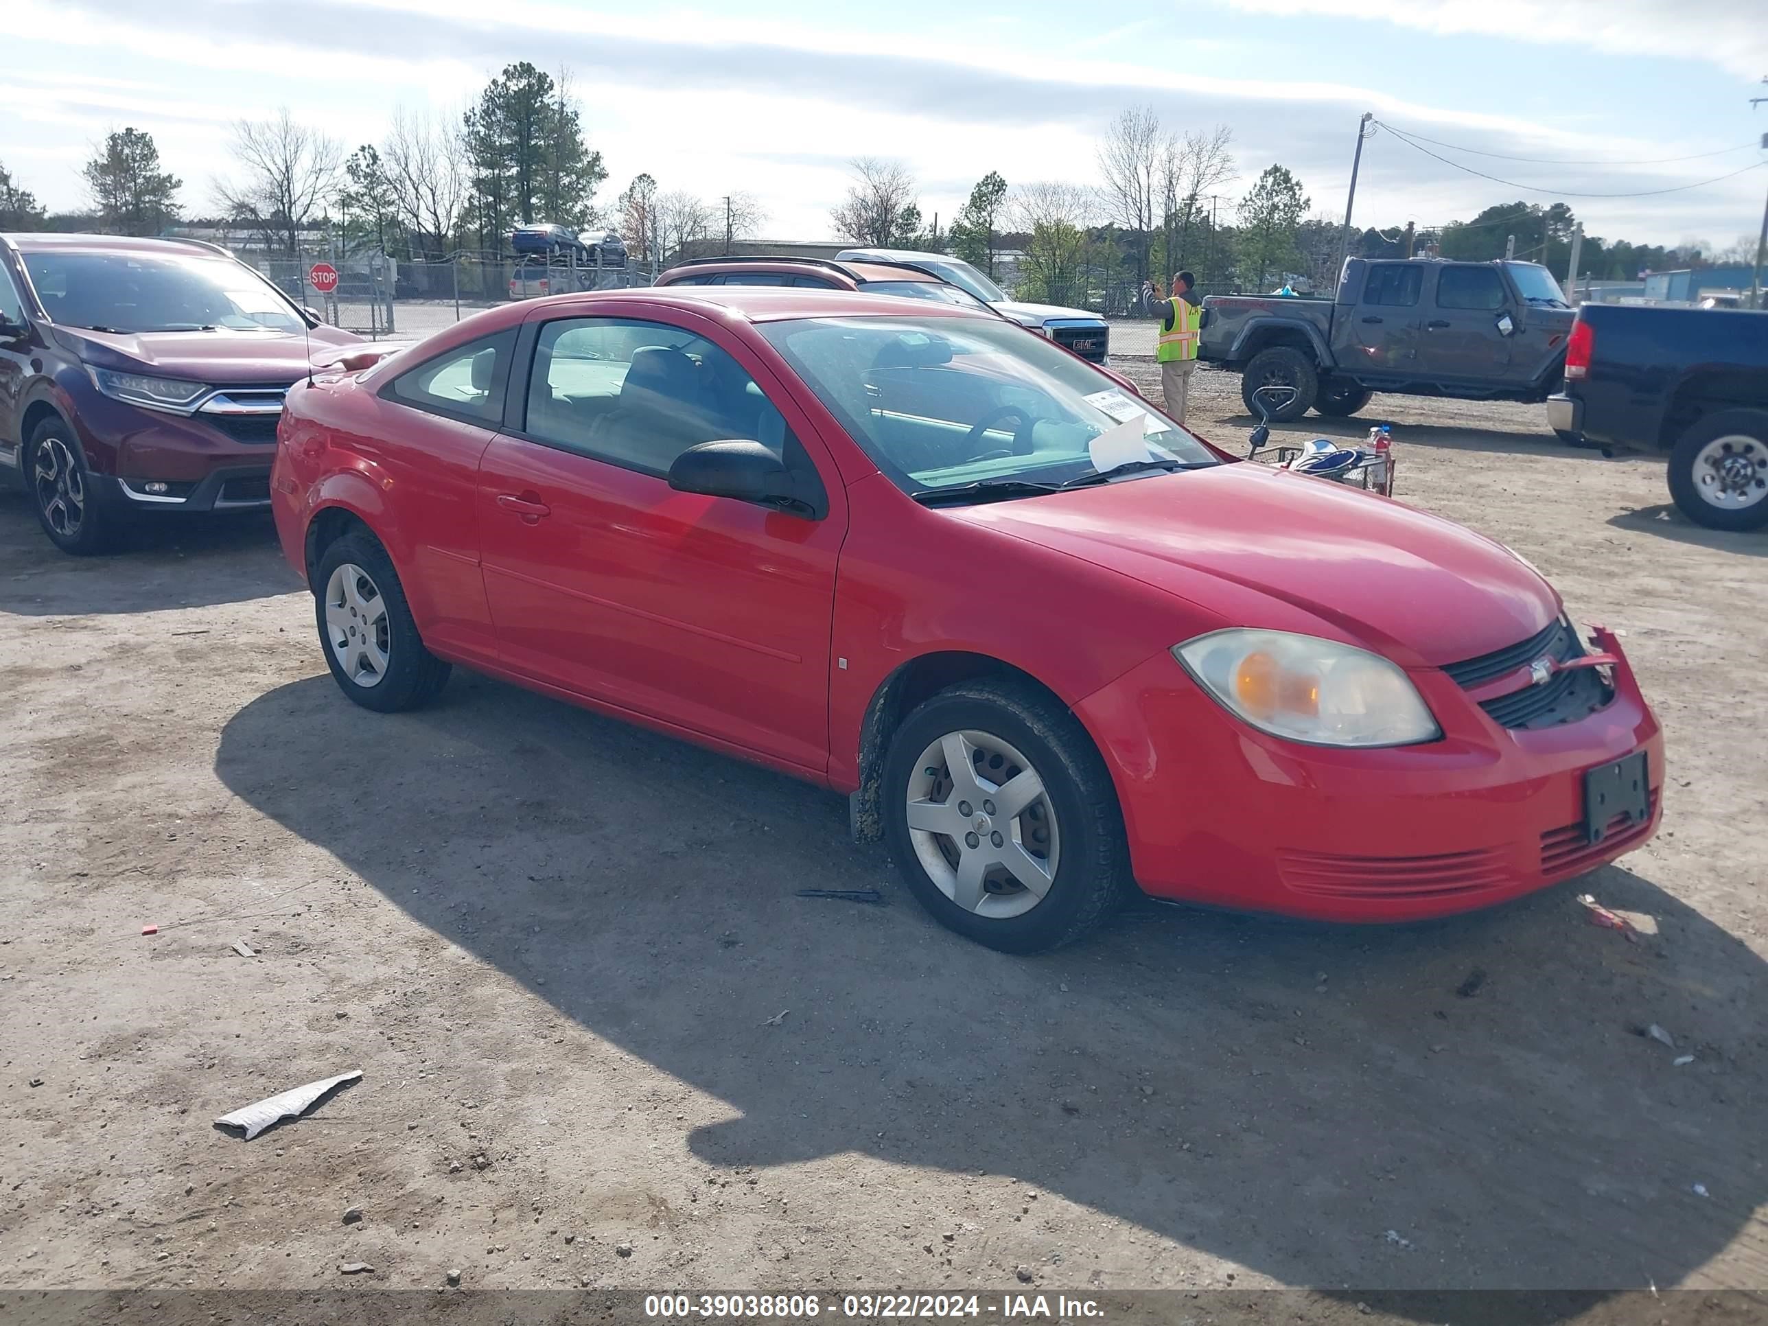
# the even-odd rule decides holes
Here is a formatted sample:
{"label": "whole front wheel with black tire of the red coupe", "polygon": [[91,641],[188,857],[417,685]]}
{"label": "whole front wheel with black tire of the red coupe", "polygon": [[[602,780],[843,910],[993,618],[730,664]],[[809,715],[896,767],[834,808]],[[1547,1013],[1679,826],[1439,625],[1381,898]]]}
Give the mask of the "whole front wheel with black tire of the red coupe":
{"label": "whole front wheel with black tire of the red coupe", "polygon": [[891,737],[884,836],[934,919],[1002,953],[1071,944],[1133,888],[1086,728],[1020,681],[953,686]]}

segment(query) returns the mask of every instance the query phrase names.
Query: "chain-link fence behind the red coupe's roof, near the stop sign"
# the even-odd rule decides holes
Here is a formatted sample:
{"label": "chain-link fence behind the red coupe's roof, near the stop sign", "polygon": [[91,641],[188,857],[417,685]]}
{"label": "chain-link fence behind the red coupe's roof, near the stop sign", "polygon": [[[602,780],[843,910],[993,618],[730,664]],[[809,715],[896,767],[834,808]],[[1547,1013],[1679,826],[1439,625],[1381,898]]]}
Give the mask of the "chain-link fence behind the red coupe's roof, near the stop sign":
{"label": "chain-link fence behind the red coupe's roof, near the stop sign", "polygon": [[[306,253],[290,258],[240,251],[235,256],[332,327],[373,339],[428,336],[513,299],[622,290],[651,285],[656,276],[651,263],[543,263],[483,251],[419,260],[384,253]],[[311,281],[315,263],[322,262],[338,272],[338,288],[329,293],[316,290]]]}

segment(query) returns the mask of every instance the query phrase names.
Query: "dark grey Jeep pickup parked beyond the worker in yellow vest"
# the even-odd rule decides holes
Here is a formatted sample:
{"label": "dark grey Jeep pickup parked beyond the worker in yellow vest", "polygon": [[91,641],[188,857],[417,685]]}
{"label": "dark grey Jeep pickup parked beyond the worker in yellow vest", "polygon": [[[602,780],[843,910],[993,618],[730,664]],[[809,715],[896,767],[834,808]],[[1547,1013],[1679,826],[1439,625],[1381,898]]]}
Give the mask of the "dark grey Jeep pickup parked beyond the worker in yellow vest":
{"label": "dark grey Jeep pickup parked beyond the worker in yellow vest", "polygon": [[1337,299],[1209,295],[1197,357],[1296,394],[1273,417],[1310,408],[1347,417],[1377,391],[1475,401],[1545,401],[1561,384],[1572,308],[1531,262],[1351,258]]}

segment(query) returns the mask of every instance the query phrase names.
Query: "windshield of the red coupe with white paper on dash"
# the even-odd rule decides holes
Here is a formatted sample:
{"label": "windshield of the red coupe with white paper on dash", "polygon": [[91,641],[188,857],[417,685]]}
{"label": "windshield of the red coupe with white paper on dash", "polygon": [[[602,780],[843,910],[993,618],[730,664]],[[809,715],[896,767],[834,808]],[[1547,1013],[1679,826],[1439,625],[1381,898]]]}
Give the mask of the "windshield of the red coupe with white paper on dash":
{"label": "windshield of the red coupe with white paper on dash", "polygon": [[[1091,364],[997,318],[803,318],[760,324],[889,479],[978,500],[1126,465],[1215,465],[1195,437]],[[1142,461],[1146,465],[1133,465]],[[1017,484],[1013,481],[1024,481]],[[953,493],[955,497],[958,493]]]}

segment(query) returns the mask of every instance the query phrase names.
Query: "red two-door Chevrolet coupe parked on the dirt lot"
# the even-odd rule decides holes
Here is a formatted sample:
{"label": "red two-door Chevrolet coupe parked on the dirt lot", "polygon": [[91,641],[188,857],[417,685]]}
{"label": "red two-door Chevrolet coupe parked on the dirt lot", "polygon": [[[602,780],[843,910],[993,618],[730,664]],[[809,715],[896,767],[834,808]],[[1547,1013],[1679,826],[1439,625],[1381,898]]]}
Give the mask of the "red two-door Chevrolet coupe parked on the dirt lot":
{"label": "red two-door Chevrolet coupe parked on the dirt lot", "polygon": [[460,663],[822,783],[999,949],[1132,886],[1459,912],[1657,826],[1632,668],[1526,562],[956,306],[492,309],[297,385],[272,504],[357,704]]}

